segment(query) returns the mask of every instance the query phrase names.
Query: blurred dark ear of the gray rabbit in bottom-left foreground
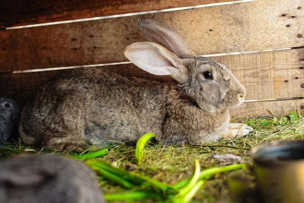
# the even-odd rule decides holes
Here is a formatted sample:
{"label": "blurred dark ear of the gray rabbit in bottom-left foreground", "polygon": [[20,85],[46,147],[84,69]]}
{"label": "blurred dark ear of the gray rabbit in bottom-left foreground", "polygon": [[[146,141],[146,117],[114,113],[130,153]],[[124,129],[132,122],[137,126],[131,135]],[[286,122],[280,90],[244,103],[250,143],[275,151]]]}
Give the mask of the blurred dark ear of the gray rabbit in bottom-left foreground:
{"label": "blurred dark ear of the gray rabbit in bottom-left foreground", "polygon": [[14,186],[33,186],[44,183],[53,175],[46,171],[33,168],[18,168],[16,170],[2,171],[0,183],[5,182]]}

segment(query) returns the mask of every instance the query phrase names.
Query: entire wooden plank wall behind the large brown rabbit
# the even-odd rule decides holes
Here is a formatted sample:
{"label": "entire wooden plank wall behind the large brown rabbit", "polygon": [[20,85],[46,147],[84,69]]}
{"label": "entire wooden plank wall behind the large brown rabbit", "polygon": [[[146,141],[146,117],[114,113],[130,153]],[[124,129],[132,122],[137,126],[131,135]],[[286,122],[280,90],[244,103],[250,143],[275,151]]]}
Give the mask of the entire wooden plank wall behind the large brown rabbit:
{"label": "entire wooden plank wall behind the large brown rabbit", "polygon": [[[61,72],[43,69],[127,61],[123,54],[125,47],[147,41],[137,28],[137,19],[153,17],[173,27],[199,55],[261,51],[212,57],[231,68],[247,89],[246,99],[259,100],[243,104],[233,111],[233,117],[279,115],[295,109],[304,111],[303,99],[265,101],[304,95],[303,0],[260,0],[6,29],[227,2],[233,0],[4,0],[0,3],[0,95],[9,96],[23,106],[40,85]],[[150,75],[133,64],[100,68],[127,77],[172,81],[170,77]],[[40,72],[16,74],[37,69]]]}

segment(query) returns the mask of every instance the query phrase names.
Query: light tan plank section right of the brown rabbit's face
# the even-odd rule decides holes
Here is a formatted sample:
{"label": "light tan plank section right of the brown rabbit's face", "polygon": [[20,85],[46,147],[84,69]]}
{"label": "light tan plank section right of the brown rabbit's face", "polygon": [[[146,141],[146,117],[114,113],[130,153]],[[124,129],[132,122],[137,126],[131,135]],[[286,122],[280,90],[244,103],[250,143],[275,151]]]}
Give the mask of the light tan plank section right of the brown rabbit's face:
{"label": "light tan plank section right of the brown rabbit's face", "polygon": [[226,64],[247,90],[246,99],[304,95],[304,49],[212,57]]}

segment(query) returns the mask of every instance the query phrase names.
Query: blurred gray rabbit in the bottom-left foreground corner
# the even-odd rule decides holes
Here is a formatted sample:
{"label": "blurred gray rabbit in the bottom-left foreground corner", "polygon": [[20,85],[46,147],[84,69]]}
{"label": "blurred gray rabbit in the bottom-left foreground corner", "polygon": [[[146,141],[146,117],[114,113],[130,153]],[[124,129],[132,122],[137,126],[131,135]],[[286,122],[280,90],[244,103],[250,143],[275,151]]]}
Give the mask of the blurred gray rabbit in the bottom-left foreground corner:
{"label": "blurred gray rabbit in the bottom-left foreground corner", "polygon": [[105,202],[95,173],[78,160],[19,155],[0,161],[2,203]]}

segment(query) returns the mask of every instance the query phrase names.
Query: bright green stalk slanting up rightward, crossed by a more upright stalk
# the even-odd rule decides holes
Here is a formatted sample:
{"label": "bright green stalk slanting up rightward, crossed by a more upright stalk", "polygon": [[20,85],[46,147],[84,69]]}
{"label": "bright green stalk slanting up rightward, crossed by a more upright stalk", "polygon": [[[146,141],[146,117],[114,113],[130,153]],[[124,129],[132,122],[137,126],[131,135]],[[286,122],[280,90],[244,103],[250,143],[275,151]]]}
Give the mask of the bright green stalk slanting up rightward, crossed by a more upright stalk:
{"label": "bright green stalk slanting up rightward, crossed by a more upright stalk", "polygon": [[[222,166],[222,167],[207,168],[206,170],[204,170],[200,173],[199,180],[207,178],[209,176],[213,176],[218,173],[243,169],[244,167],[245,167],[245,164],[241,163],[241,164],[231,164],[231,165]],[[182,188],[185,185],[187,185],[190,182],[190,180],[191,180],[191,178],[181,180],[178,183],[176,183],[175,185],[173,185],[173,188],[174,189]]]}

